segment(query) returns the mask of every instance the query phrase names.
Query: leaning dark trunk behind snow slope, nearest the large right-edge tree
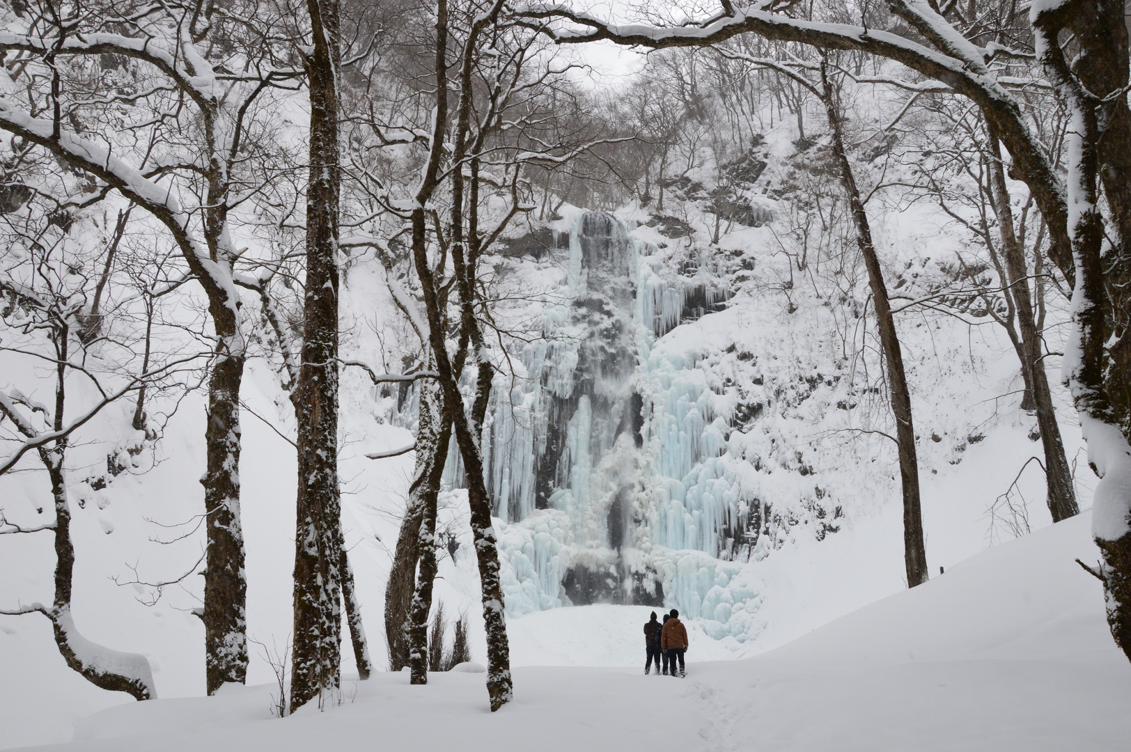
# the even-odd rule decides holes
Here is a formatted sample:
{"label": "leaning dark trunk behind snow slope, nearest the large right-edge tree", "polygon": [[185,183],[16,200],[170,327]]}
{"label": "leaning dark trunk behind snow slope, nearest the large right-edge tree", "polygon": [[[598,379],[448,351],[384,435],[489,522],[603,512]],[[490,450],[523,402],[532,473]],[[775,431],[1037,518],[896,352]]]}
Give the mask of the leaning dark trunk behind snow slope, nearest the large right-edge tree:
{"label": "leaning dark trunk behind snow slope, nearest the large right-edge tree", "polygon": [[1026,383],[1033,390],[1037,425],[1041,427],[1041,442],[1045,450],[1045,479],[1047,484],[1045,500],[1048,504],[1048,511],[1052,512],[1053,521],[1059,522],[1079,515],[1080,507],[1076,502],[1072,468],[1064,456],[1064,442],[1061,441],[1056,410],[1053,407],[1053,397],[1048,389],[1048,375],[1045,373],[1044,354],[1042,353],[1042,335],[1037,329],[1036,318],[1033,313],[1025,249],[1018,243],[1013,232],[1013,211],[1009,206],[1009,191],[1005,187],[1005,171],[1002,168],[1001,148],[994,137],[990,138],[990,188],[994,213],[998,215],[1005,270],[1009,275],[1008,294],[1013,300],[1017,326],[1021,334],[1021,347],[1018,355],[1021,357],[1021,370],[1028,377]]}

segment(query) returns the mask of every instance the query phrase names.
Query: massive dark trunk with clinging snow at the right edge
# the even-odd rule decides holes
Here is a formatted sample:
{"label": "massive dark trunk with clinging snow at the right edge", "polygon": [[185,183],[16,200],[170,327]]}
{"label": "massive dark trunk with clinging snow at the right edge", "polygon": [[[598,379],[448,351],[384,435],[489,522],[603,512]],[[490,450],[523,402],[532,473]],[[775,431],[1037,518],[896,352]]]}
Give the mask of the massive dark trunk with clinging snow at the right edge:
{"label": "massive dark trunk with clinging snow at the right edge", "polygon": [[[1091,533],[1103,554],[1098,569],[1088,568],[1104,584],[1107,623],[1115,643],[1131,659],[1131,444],[1128,443],[1125,389],[1122,373],[1125,301],[1124,204],[1131,174],[1131,145],[1104,145],[1126,138],[1128,34],[1122,3],[1097,0],[1042,2],[1033,6],[1037,59],[1061,102],[1071,113],[1068,148],[1068,207],[1076,287],[1072,291],[1072,334],[1064,353],[1064,378],[1072,392],[1080,427],[1088,442],[1088,460],[1099,476],[1093,496]],[[1081,53],[1074,70],[1059,44],[1061,31],[1076,33]],[[1123,114],[1112,112],[1115,105]],[[1104,173],[1112,173],[1110,176]],[[1098,183],[1104,175],[1114,217],[1113,248],[1104,258],[1104,218]]]}

